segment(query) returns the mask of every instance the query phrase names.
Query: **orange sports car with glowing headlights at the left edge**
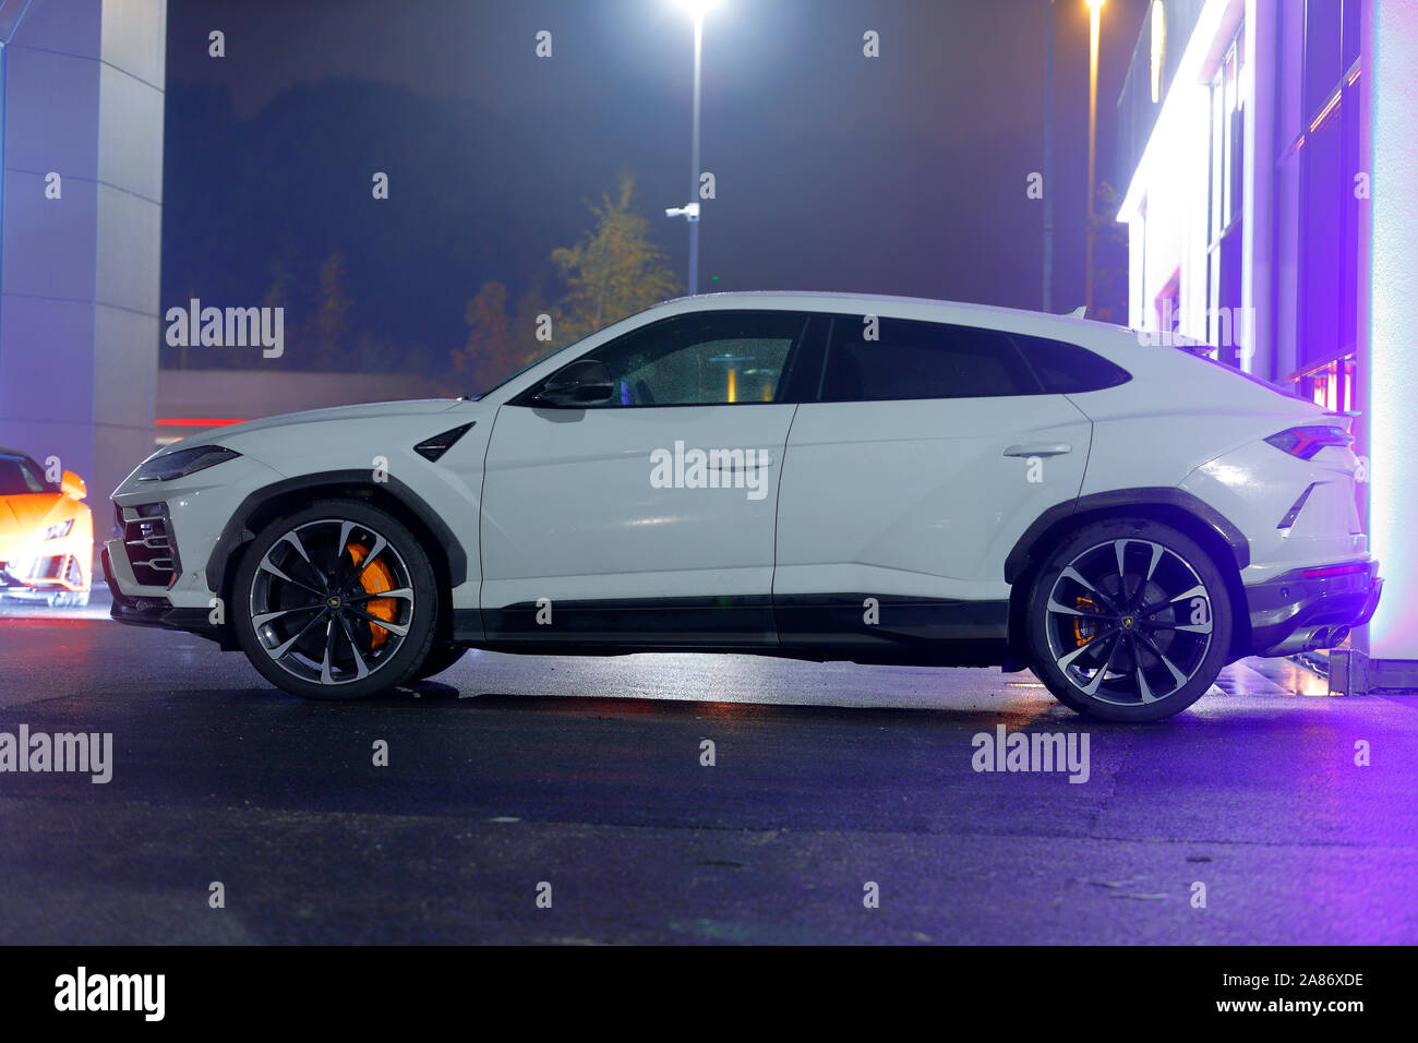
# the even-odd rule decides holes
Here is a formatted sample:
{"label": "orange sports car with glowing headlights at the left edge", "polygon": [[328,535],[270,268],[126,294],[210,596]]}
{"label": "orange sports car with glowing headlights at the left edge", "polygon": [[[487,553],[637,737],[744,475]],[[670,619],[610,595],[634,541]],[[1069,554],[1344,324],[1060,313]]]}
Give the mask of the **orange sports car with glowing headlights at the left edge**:
{"label": "orange sports car with glowing headlights at the left edge", "polygon": [[0,446],[0,596],[88,605],[94,515],[74,471],[50,481],[24,453]]}

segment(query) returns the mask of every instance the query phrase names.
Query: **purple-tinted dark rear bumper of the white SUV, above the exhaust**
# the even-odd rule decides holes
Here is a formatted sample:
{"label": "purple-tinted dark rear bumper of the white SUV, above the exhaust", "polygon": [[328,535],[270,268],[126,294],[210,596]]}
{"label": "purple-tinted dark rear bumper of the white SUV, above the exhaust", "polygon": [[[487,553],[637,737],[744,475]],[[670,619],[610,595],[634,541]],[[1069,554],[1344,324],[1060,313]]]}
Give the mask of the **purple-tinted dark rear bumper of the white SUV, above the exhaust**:
{"label": "purple-tinted dark rear bumper of the white SUV, above the exhaust", "polygon": [[[1384,580],[1378,562],[1334,575],[1306,576],[1314,566],[1248,586],[1251,656],[1293,656],[1340,644],[1378,607]],[[1334,566],[1336,569],[1344,566]]]}

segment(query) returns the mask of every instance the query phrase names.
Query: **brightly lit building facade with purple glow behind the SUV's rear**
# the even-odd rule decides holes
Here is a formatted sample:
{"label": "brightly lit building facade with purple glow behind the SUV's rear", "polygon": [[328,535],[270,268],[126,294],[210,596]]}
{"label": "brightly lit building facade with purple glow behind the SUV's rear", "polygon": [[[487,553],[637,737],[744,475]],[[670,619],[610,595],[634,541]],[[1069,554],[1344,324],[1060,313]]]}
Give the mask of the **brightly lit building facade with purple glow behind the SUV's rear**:
{"label": "brightly lit building facade with purple glow behind the SUV's rear", "polygon": [[1356,416],[1385,590],[1332,681],[1418,684],[1418,3],[1153,0],[1119,133],[1129,322]]}

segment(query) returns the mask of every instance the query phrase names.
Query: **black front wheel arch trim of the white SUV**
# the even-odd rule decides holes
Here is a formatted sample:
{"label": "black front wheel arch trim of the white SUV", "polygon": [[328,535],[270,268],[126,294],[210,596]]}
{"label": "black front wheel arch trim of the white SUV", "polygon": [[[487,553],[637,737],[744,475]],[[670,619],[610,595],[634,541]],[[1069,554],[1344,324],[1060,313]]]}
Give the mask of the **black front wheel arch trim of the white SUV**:
{"label": "black front wheel arch trim of the white SUV", "polygon": [[[376,482],[367,470],[286,478],[251,492],[227,519],[207,559],[207,587],[230,606],[231,585],[247,543],[275,518],[308,507],[315,500],[354,500],[369,504],[408,528],[428,553],[438,580],[440,629],[451,627],[452,589],[468,579],[467,549],[438,512],[407,484],[393,475]],[[228,636],[230,633],[224,634]]]}

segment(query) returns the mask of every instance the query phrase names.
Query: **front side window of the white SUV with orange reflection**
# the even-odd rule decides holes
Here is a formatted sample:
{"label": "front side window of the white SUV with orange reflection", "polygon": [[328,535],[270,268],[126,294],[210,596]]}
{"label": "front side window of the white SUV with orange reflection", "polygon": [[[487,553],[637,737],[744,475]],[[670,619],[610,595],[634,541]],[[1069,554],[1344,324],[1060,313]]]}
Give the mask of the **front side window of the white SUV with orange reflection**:
{"label": "front side window of the white SUV with orange reflection", "polygon": [[610,370],[610,407],[780,402],[805,325],[807,315],[795,312],[698,312],[651,324],[584,358]]}

